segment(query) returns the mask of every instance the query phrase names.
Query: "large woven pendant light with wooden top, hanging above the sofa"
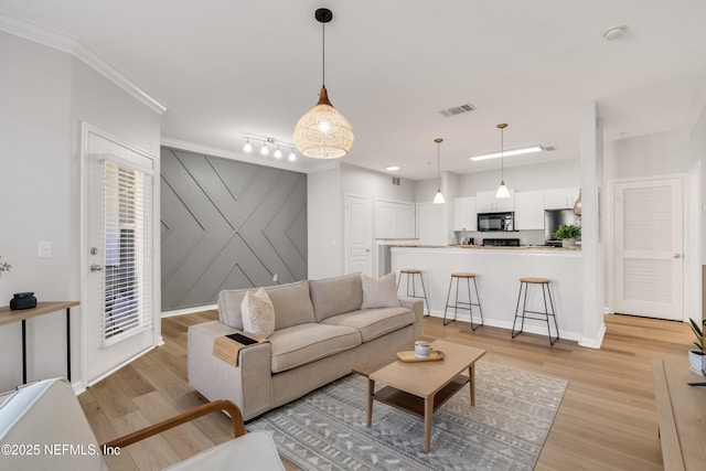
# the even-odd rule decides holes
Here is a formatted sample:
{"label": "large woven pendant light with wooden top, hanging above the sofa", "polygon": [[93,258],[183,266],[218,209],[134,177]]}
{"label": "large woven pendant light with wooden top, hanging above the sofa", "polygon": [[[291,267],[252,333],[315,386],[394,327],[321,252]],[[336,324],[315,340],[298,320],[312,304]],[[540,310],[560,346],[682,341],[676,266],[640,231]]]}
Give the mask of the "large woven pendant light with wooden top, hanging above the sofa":
{"label": "large woven pendant light with wooden top, hanging above the sofa", "polygon": [[333,13],[327,8],[320,8],[315,11],[314,18],[321,23],[322,30],[323,85],[319,93],[319,103],[302,116],[295,127],[295,144],[306,157],[338,159],[353,147],[353,128],[331,105],[325,86],[325,23],[333,19]]}

